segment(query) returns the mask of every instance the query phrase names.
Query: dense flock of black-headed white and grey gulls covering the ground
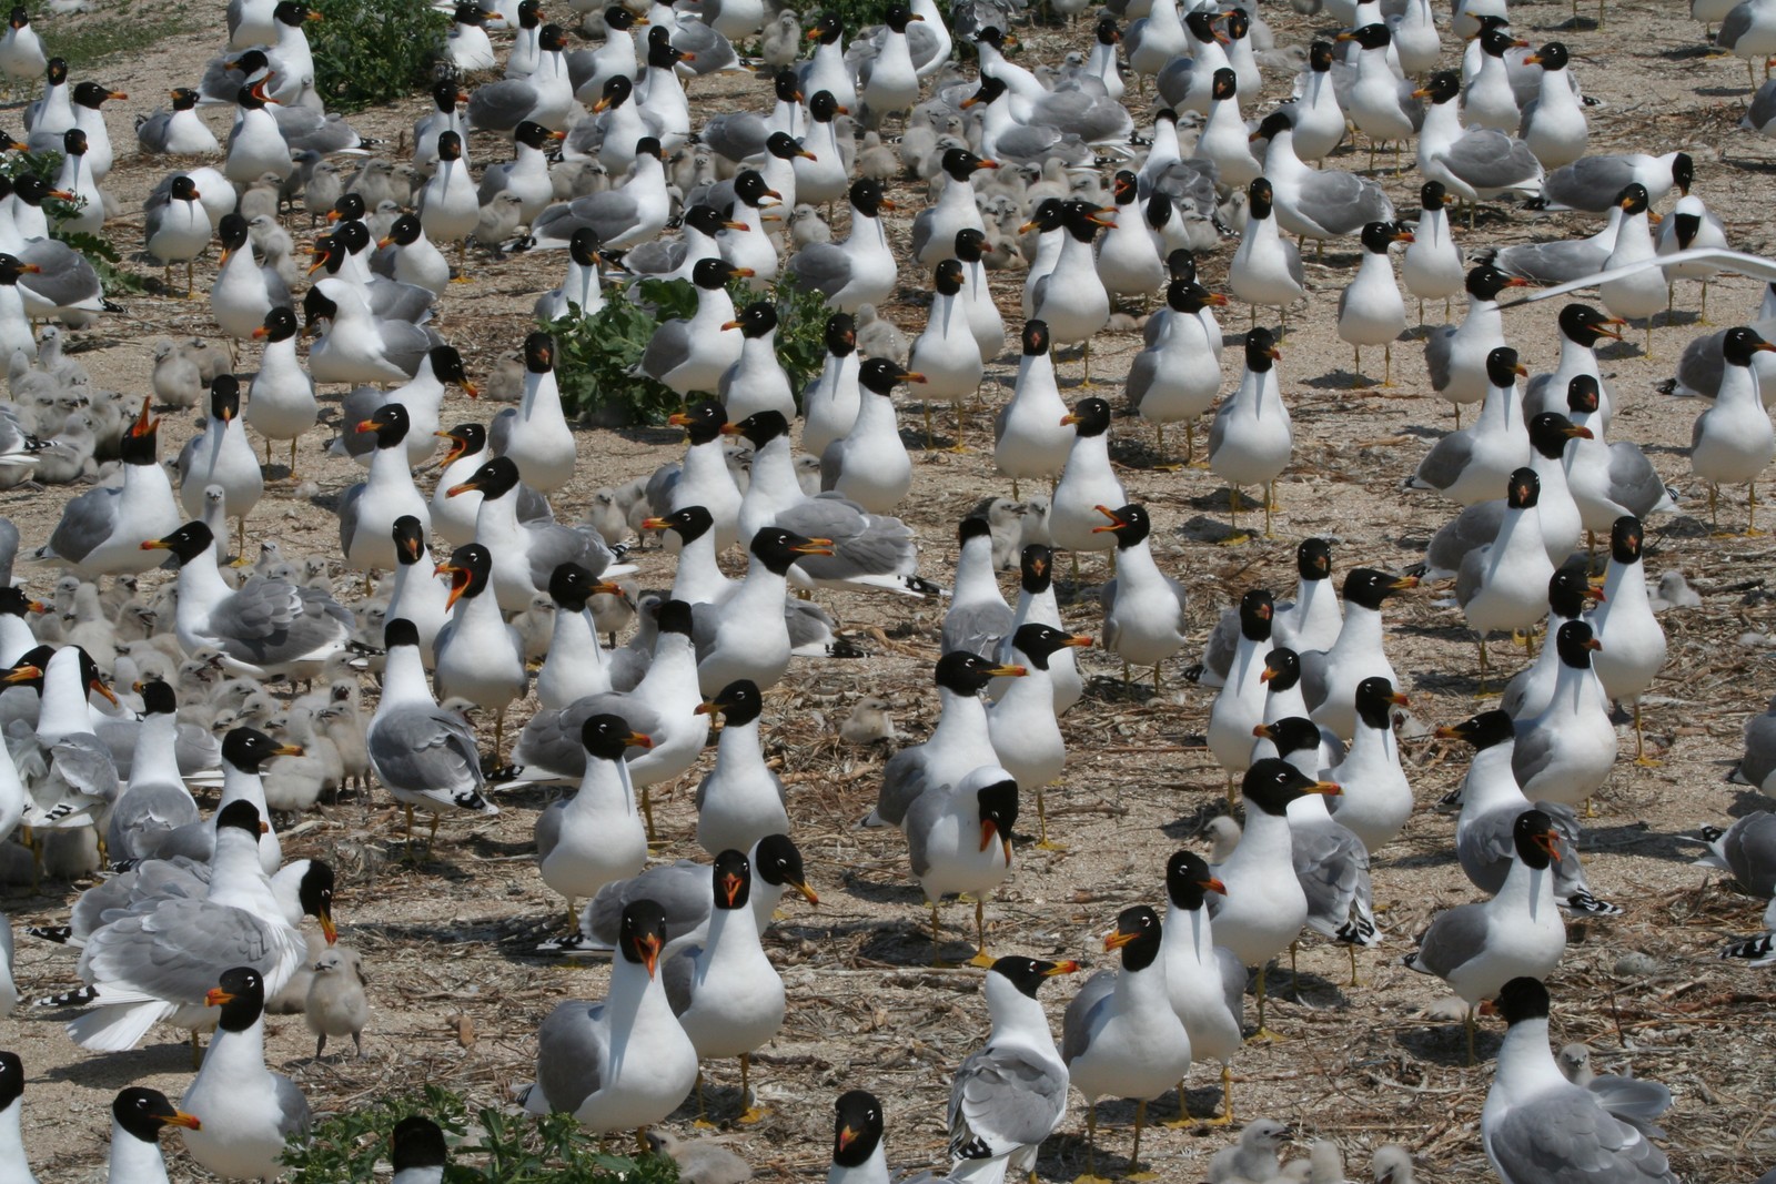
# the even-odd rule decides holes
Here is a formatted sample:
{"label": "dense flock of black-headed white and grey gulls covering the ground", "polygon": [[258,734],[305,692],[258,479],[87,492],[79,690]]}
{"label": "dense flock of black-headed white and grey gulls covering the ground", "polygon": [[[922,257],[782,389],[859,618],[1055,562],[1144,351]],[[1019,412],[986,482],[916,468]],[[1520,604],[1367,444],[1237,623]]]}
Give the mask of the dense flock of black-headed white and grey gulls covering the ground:
{"label": "dense flock of black-headed white and grey gulls covering the ground", "polygon": [[[705,1113],[702,1074],[733,1058],[742,1113],[732,1120],[757,1122],[751,1056],[790,1003],[765,934],[789,893],[817,904],[760,728],[776,722],[785,678],[860,653],[819,598],[904,596],[941,609],[940,714],[922,744],[886,762],[863,825],[904,833],[934,960],[941,902],[973,905],[987,1028],[955,1067],[948,1179],[1034,1179],[1071,1092],[1083,1099],[1087,1177],[1099,1164],[1098,1102],[1135,1101],[1126,1172],[1144,1179],[1147,1104],[1177,1090],[1190,1122],[1193,1063],[1218,1065],[1222,1083],[1218,1113],[1201,1120],[1234,1122],[1241,1049],[1273,1035],[1279,957],[1293,964],[1300,941],[1343,944],[1355,975],[1357,951],[1385,939],[1458,999],[1471,1063],[1476,1015],[1508,1024],[1474,1134],[1497,1179],[1675,1180],[1655,1125],[1671,1093],[1595,1074],[1582,1046],[1556,1056],[1549,1015],[1566,918],[1607,925],[1623,912],[1593,893],[1579,859],[1590,802],[1625,758],[1613,708],[1632,717],[1634,758],[1652,762],[1641,701],[1666,664],[1655,607],[1694,604],[1680,577],[1648,586],[1645,524],[1675,511],[1677,493],[1621,438],[1616,401],[1632,396],[1611,389],[1597,346],[1641,325],[1652,350],[1678,280],[1700,280],[1703,302],[1721,272],[1771,282],[1753,320],[1684,346],[1669,392],[1696,398],[1684,463],[1716,529],[1719,493],[1739,488],[1755,529],[1755,486],[1776,456],[1776,264],[1730,250],[1693,192],[1694,160],[1586,154],[1609,108],[1584,98],[1570,46],[1529,44],[1502,0],[1463,0],[1446,16],[1428,0],[1314,0],[1339,32],[1305,51],[1279,46],[1249,7],[1115,0],[1087,14],[1083,0],[1050,0],[1044,16],[1064,23],[1071,51],[1041,64],[1019,60],[1012,28],[1032,14],[1009,0],[948,12],[892,4],[870,28],[836,14],[805,27],[760,0],[570,7],[574,28],[545,23],[538,0],[456,5],[448,66],[391,154],[323,108],[329,80],[305,34],[318,12],[233,0],[226,48],[202,78],[135,121],[137,149],[174,169],[140,224],[169,288],[185,264],[202,300],[194,263],[218,245],[208,304],[220,344],[165,343],[135,383],[153,398],[99,391],[64,353],[71,328],[115,305],[92,264],[50,234],[105,233],[121,213],[105,190],[105,105],[126,96],[71,78],[53,30],[39,37],[23,7],[0,41],[0,71],[44,82],[12,147],[60,160],[55,176],[21,167],[0,181],[12,394],[0,407],[0,485],[30,483],[41,499],[55,497],[50,485],[85,486],[46,538],[21,540],[0,520],[0,836],[16,833],[9,863],[32,884],[91,884],[66,925],[32,930],[76,959],[67,989],[37,999],[71,1012],[73,1042],[124,1058],[170,1026],[190,1033],[195,1056],[199,1033],[213,1031],[176,1106],[156,1090],[117,1093],[110,1179],[165,1180],[165,1127],[181,1127],[190,1159],[215,1177],[277,1179],[309,1102],[266,1065],[266,1012],[302,1012],[316,1056],[329,1038],[361,1047],[366,976],[336,941],[334,872],[286,859],[279,840],[288,818],[348,788],[403,809],[400,850],[417,861],[440,820],[554,786],[535,818],[535,863],[568,932],[547,950],[607,957],[609,991],[563,999],[542,1022],[519,1106],[570,1113],[597,1134],[645,1133],[693,1093]],[[1748,64],[1776,53],[1767,0],[1693,7]],[[687,83],[728,69],[758,71],[769,110],[693,122]],[[1288,99],[1259,117],[1265,80],[1289,75]],[[204,117],[211,108],[233,112],[226,135]],[[1765,83],[1746,126],[1776,128],[1772,110]],[[1357,151],[1334,156],[1346,142]],[[1415,215],[1376,181],[1414,172]],[[888,183],[908,176],[934,197],[904,243],[883,215],[895,208]],[[1456,243],[1463,217],[1472,227],[1476,206],[1504,199],[1604,224],[1579,240]],[[325,222],[298,275],[304,209]],[[1110,428],[1119,414],[1151,422],[1165,460],[1165,428],[1181,424],[1170,467],[1206,465],[1229,488],[1222,541],[1249,538],[1241,492],[1272,536],[1275,483],[1295,458],[1284,346],[1307,295],[1309,238],[1316,257],[1328,245],[1357,252],[1336,300],[1357,385],[1369,382],[1366,346],[1371,364],[1382,351],[1389,385],[1392,346],[1412,351],[1407,328],[1424,305],[1465,298],[1458,320],[1423,337],[1455,430],[1401,492],[1440,527],[1412,572],[1339,575],[1332,540],[1300,541],[1296,586],[1247,589],[1204,643],[1186,628],[1179,573],[1154,554],[1154,531],[1177,524],[1130,493],[1140,470],[1112,462]],[[1224,245],[1225,293],[1209,291],[1197,259]],[[444,417],[453,389],[478,389],[439,328],[456,318],[435,318],[469,312],[474,288],[456,284],[510,252],[561,277],[536,298],[542,323],[636,300],[638,279],[694,288],[694,312],[661,320],[638,364],[638,378],[682,396],[671,422],[684,456],[600,490],[577,522],[561,517],[563,493],[600,438],[563,412],[547,332],[485,382],[508,387],[515,407],[488,422]],[[1025,272],[1016,309],[989,286],[1005,268]],[[773,284],[817,291],[831,311],[824,366],[803,391],[778,360]],[[1552,371],[1531,375],[1510,343],[1501,300],[1520,286],[1529,300],[1595,289],[1595,304],[1543,305],[1561,335]],[[929,304],[911,341],[881,312],[906,289]],[[1229,343],[1233,383],[1229,300],[1250,307]],[[1160,305],[1144,348],[1089,394],[1094,339],[1124,316],[1119,304],[1144,302]],[[1330,307],[1314,302],[1307,316]],[[1082,387],[1064,394],[1055,351],[1069,346]],[[1014,499],[1019,485],[1048,493],[989,497],[963,518],[954,579],[940,588],[893,517],[920,485],[899,399],[924,405],[925,449],[938,440],[932,407],[948,403],[952,447],[977,440],[986,453],[968,412],[1007,348],[1016,376],[993,417],[991,463]],[[176,458],[162,454],[156,403],[202,414]],[[327,447],[364,470],[334,501],[337,549],[304,559],[275,538],[250,547],[266,483],[300,488],[304,449],[321,447],[323,407],[337,428]],[[1476,408],[1467,422],[1463,407]],[[670,586],[643,589],[629,577],[655,540],[675,556]],[[1082,556],[1110,573],[1096,635],[1062,620],[1060,552],[1074,589]],[[147,577],[156,566],[176,575]],[[339,598],[341,568],[362,595]],[[1384,934],[1371,859],[1415,808],[1396,735],[1412,676],[1389,662],[1385,614],[1439,580],[1453,580],[1479,643],[1483,691],[1492,678],[1502,692],[1437,728],[1472,749],[1447,808],[1474,900],[1417,935]],[[1534,650],[1536,635],[1533,660],[1508,680],[1495,673],[1488,639]],[[987,909],[1032,806],[1037,845],[1058,847],[1046,797],[1066,785],[1060,717],[1087,694],[1087,646],[1121,660],[1124,682],[1151,671],[1156,691],[1169,662],[1199,657],[1188,676],[1213,692],[1208,751],[1243,829],[1218,820],[1213,852],[1177,850],[1153,870],[1151,904],[1119,902],[1105,918],[1110,966],[1066,1003],[1057,1042],[1041,989],[1080,964],[991,955]],[[883,706],[860,703],[847,738],[890,738]],[[694,795],[703,856],[657,861],[668,845],[650,790],[700,767],[716,721]],[[1739,777],[1776,793],[1776,712],[1748,722]],[[194,788],[218,792],[208,817]],[[1776,893],[1776,817],[1694,838],[1700,864],[1751,896]],[[1764,923],[1776,930],[1776,904]],[[4,1014],[21,998],[11,927],[0,937]],[[1003,925],[993,937],[1019,944]],[[1772,943],[1764,932],[1723,957],[1771,966]],[[20,1058],[0,1053],[11,1184],[34,1179],[25,1079]],[[828,1180],[884,1184],[886,1127],[867,1090],[836,1097]],[[1250,1120],[1208,1177],[1344,1179],[1332,1143],[1284,1164],[1289,1140],[1282,1124]],[[400,1184],[439,1180],[446,1140],[412,1117],[391,1159]],[[1414,1172],[1396,1145],[1373,1166],[1378,1184]],[[687,1168],[687,1179],[716,1177]]]}

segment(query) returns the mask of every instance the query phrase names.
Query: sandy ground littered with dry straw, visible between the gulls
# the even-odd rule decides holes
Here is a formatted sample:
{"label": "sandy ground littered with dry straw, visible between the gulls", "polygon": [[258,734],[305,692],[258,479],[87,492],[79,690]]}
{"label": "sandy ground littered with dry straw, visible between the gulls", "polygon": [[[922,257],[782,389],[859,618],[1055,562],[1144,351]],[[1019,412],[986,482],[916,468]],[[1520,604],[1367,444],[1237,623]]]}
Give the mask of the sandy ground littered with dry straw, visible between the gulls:
{"label": "sandy ground littered with dry straw, visible between the gulls", "polygon": [[[1305,44],[1327,23],[1277,5],[1266,5],[1266,16],[1275,21],[1279,44]],[[1611,4],[1606,30],[1597,30],[1591,20],[1570,28],[1565,4],[1522,5],[1517,18],[1518,32],[1536,43],[1565,37],[1586,92],[1604,99],[1591,112],[1593,151],[1687,147],[1698,158],[1698,192],[1726,218],[1733,245],[1760,252],[1776,247],[1765,224],[1776,190],[1771,153],[1735,128],[1748,99],[1744,66],[1737,59],[1710,59],[1700,27],[1682,20],[1680,5]],[[78,18],[103,20],[103,14]],[[133,94],[112,112],[119,165],[110,186],[126,213],[108,231],[126,250],[140,245],[140,199],[165,172],[163,163],[130,153],[131,117],[155,107],[167,85],[194,80],[220,44],[220,4],[192,5],[186,20],[202,32],[114,57],[92,71]],[[53,46],[57,21],[44,20],[43,32]],[[1083,23],[1069,30],[1023,30],[1023,36],[1027,60],[1037,62],[1057,62],[1066,50],[1083,51],[1089,44]],[[1275,101],[1284,87],[1282,78],[1268,80],[1265,99]],[[767,103],[767,87],[739,75],[702,82],[693,91],[698,119],[732,105],[764,110]],[[392,138],[421,108],[423,99],[414,98],[357,121],[373,135]],[[497,160],[501,151],[480,144],[476,160]],[[1339,163],[1362,167],[1364,160],[1344,156]],[[1384,174],[1382,181],[1403,211],[1415,209],[1414,174]],[[924,192],[916,183],[899,183],[892,195],[902,199],[892,233],[904,240],[911,217],[906,208],[916,209]],[[293,229],[307,234],[305,218],[295,218]],[[1590,227],[1577,220],[1487,209],[1463,243],[1581,233]],[[1206,259],[1211,286],[1220,282],[1229,257],[1231,249],[1224,249]],[[558,256],[476,261],[474,282],[448,293],[437,325],[464,350],[472,376],[487,375],[499,355],[517,346],[533,295],[556,282],[559,263]],[[1201,469],[1156,470],[1149,430],[1135,421],[1114,428],[1112,454],[1121,476],[1130,495],[1151,506],[1154,549],[1162,564],[1188,586],[1199,630],[1250,586],[1279,593],[1293,588],[1291,557],[1300,538],[1336,538],[1341,572],[1359,564],[1399,568],[1417,559],[1428,534],[1453,513],[1447,504],[1396,493],[1430,440],[1449,428],[1446,405],[1424,383],[1419,350],[1401,344],[1396,351],[1396,389],[1350,385],[1350,353],[1334,335],[1332,311],[1353,264],[1353,245],[1339,245],[1325,264],[1309,264],[1311,307],[1291,316],[1280,367],[1296,424],[1296,453],[1279,486],[1273,540],[1231,549],[1209,545],[1224,534],[1227,513],[1215,479]],[[199,284],[211,275],[213,256],[201,263]],[[908,286],[888,312],[916,332],[924,316],[918,277],[906,270],[902,279]],[[1005,275],[998,288],[1002,307],[1012,314],[1018,282],[1016,273]],[[1749,316],[1756,295],[1749,280],[1724,280],[1716,284],[1709,307],[1717,320]],[[1680,305],[1693,302],[1693,289],[1680,293]],[[213,328],[204,302],[131,296],[126,305],[126,314],[76,334],[76,348],[98,383],[131,394],[147,391],[156,339]],[[1531,369],[1554,364],[1552,312],[1540,305],[1508,314],[1510,337]],[[1243,309],[1227,314],[1231,330],[1243,328]],[[1691,850],[1675,836],[1769,804],[1723,776],[1739,756],[1744,717],[1776,691],[1776,662],[1764,639],[1776,632],[1767,586],[1776,547],[1764,538],[1709,536],[1700,509],[1705,490],[1689,478],[1684,454],[1700,405],[1653,391],[1693,325],[1694,314],[1680,312],[1677,327],[1661,328],[1657,360],[1643,357],[1637,344],[1606,351],[1620,399],[1620,437],[1645,444],[1684,492],[1682,511],[1652,524],[1648,570],[1653,577],[1684,570],[1703,604],[1664,616],[1671,657],[1648,701],[1648,737],[1662,763],[1636,767],[1623,760],[1598,799],[1600,818],[1586,841],[1590,875],[1598,895],[1621,902],[1627,912],[1572,925],[1572,944],[1552,983],[1554,1033],[1558,1042],[1591,1042],[1611,1070],[1669,1085],[1677,1104],[1666,1127],[1677,1170],[1689,1180],[1735,1184],[1776,1163],[1771,1010],[1776,980],[1767,971],[1716,960],[1726,937],[1756,927],[1762,902],[1735,895],[1717,875],[1689,866]],[[1133,334],[1099,339],[1099,391],[1112,401],[1137,343]],[[250,367],[254,357],[249,350],[242,367]],[[1007,355],[989,367],[987,403],[1007,398],[1014,362]],[[1240,351],[1233,348],[1229,380],[1238,366]],[[1064,366],[1069,383],[1076,373],[1076,364]],[[481,419],[492,410],[453,392],[444,419]],[[916,408],[908,412],[908,438],[915,442]],[[190,433],[188,419],[167,421],[165,456]],[[330,506],[357,474],[323,458],[323,437],[316,433],[305,442],[302,458],[305,474],[320,481],[320,495],[298,501],[288,485],[274,483],[254,515],[256,534],[279,538],[286,554],[336,552]],[[599,486],[645,474],[678,451],[680,440],[670,430],[584,431],[581,472],[558,506],[577,515]],[[947,579],[957,518],[979,497],[998,492],[1007,492],[1005,481],[986,453],[918,454],[918,481],[904,511],[920,531],[925,575]],[[36,545],[66,497],[67,490],[5,493],[0,513],[18,520],[27,545]],[[1744,490],[1728,492],[1728,520],[1739,524],[1742,515]],[[646,552],[641,575],[646,586],[666,586],[668,561]],[[53,573],[30,579],[32,588],[44,591]],[[1094,588],[1103,579],[1105,566],[1092,559],[1085,563],[1083,586],[1067,588],[1067,621],[1082,632],[1098,628]],[[337,586],[341,596],[355,595],[348,577]],[[867,641],[872,651],[867,659],[799,664],[767,703],[765,744],[790,785],[794,834],[806,852],[821,905],[787,905],[787,918],[769,939],[792,1008],[781,1035],[760,1053],[755,1072],[773,1113],[758,1125],[733,1131],[732,1145],[755,1164],[758,1177],[781,1180],[824,1173],[831,1099],[852,1086],[868,1086],[884,1099],[895,1166],[938,1163],[950,1076],[984,1033],[980,973],[927,969],[925,911],[908,879],[900,836],[854,827],[874,801],[886,753],[849,749],[836,738],[838,722],[865,694],[886,694],[904,738],[924,738],[936,712],[929,669],[938,657],[941,604],[858,595],[824,600],[847,627],[879,627],[886,634]],[[1440,607],[1433,593],[1417,593],[1392,604],[1387,616],[1391,655],[1421,721],[1455,722],[1485,706],[1476,699],[1474,648],[1453,609]],[[1209,696],[1185,685],[1183,660],[1169,666],[1158,698],[1124,689],[1115,664],[1096,650],[1085,651],[1083,662],[1092,685],[1064,721],[1071,747],[1066,785],[1048,799],[1067,847],[1043,852],[1021,843],[1016,873],[993,898],[987,916],[995,950],[1103,966],[1099,939],[1117,911],[1131,902],[1160,904],[1167,854],[1179,845],[1201,847],[1202,824],[1224,809],[1222,774],[1202,749]],[[1424,809],[1375,864],[1376,898],[1387,905],[1385,941],[1364,959],[1357,987],[1344,985],[1341,950],[1304,946],[1300,998],[1280,999],[1272,1014],[1272,1026],[1289,1038],[1252,1046],[1234,1062],[1238,1109],[1243,1118],[1272,1115],[1304,1134],[1337,1140],[1352,1156],[1352,1175],[1366,1172],[1369,1148],[1399,1141],[1417,1156],[1421,1179],[1483,1180],[1490,1173],[1478,1124],[1490,1065],[1465,1067],[1460,1026],[1423,1015],[1442,994],[1439,983],[1398,964],[1435,911],[1474,898],[1453,859],[1453,822],[1430,809],[1460,777],[1465,751],[1428,738],[1405,749]],[[549,1008],[565,998],[604,992],[604,966],[559,966],[533,955],[538,939],[559,927],[559,902],[538,880],[529,856],[540,801],[508,799],[494,820],[446,825],[437,857],[417,870],[398,859],[391,841],[394,815],[377,793],[368,802],[348,799],[327,808],[288,843],[291,854],[337,861],[343,880],[337,914],[345,941],[366,953],[375,1003],[362,1060],[311,1060],[313,1042],[298,1017],[272,1022],[270,1062],[302,1085],[316,1111],[339,1111],[421,1081],[458,1090],[474,1104],[499,1102],[508,1086],[531,1077],[533,1033]],[[661,824],[670,838],[662,857],[694,854],[687,792],[664,804]],[[5,909],[16,925],[57,921],[73,893],[73,886],[60,884],[37,896],[14,891]],[[948,911],[945,951],[952,957],[971,953],[964,918],[963,909]],[[1645,951],[1657,969],[1620,975],[1618,959],[1629,951]],[[73,959],[21,941],[18,976],[27,994],[43,994],[71,982]],[[1048,989],[1057,1028],[1073,987],[1062,982]],[[146,1083],[176,1097],[190,1081],[186,1049],[170,1031],[156,1031],[146,1047],[114,1056],[76,1049],[60,1024],[41,1012],[21,1010],[0,1031],[0,1044],[18,1049],[28,1069],[27,1141],[44,1180],[101,1177],[107,1109],[115,1090]],[[1497,1030],[1487,1031],[1483,1056],[1495,1047]],[[733,1065],[714,1065],[712,1085],[718,1113],[732,1113]],[[1211,1113],[1213,1074],[1199,1069],[1190,1085],[1192,1109]],[[1154,1106],[1154,1117],[1170,1118],[1172,1108],[1174,1101],[1165,1099]],[[1101,1109],[1101,1164],[1122,1172],[1133,1106],[1106,1102]],[[1046,1143],[1041,1177],[1071,1179],[1085,1168],[1082,1118],[1074,1106]],[[682,1109],[671,1125],[689,1131],[689,1120],[691,1113]],[[1204,1175],[1208,1157],[1231,1138],[1224,1129],[1160,1129],[1149,1133],[1142,1150],[1160,1179],[1188,1182]],[[202,1179],[183,1154],[174,1156],[172,1173],[178,1180]]]}

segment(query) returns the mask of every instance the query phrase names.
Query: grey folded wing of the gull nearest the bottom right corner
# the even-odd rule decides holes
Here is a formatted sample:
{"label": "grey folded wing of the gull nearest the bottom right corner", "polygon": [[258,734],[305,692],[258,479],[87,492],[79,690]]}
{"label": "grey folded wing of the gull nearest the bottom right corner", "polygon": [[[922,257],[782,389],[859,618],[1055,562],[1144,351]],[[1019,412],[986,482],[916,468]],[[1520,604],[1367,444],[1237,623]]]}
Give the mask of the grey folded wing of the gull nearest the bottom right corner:
{"label": "grey folded wing of the gull nearest the bottom right corner", "polygon": [[1639,1184],[1677,1180],[1666,1154],[1602,1109],[1575,1085],[1513,1106],[1487,1134],[1487,1152],[1508,1180]]}

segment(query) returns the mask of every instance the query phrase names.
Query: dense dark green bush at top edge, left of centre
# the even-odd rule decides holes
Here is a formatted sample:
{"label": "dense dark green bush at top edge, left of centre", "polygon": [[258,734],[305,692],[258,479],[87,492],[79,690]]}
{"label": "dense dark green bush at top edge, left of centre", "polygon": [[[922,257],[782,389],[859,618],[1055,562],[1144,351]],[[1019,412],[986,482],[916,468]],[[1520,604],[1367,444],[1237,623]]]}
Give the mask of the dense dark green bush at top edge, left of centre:
{"label": "dense dark green bush at top edge, left of centre", "polygon": [[329,108],[359,110],[432,83],[449,16],[426,0],[313,0],[314,89]]}

